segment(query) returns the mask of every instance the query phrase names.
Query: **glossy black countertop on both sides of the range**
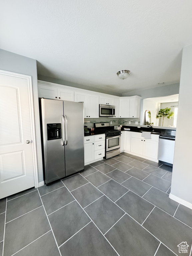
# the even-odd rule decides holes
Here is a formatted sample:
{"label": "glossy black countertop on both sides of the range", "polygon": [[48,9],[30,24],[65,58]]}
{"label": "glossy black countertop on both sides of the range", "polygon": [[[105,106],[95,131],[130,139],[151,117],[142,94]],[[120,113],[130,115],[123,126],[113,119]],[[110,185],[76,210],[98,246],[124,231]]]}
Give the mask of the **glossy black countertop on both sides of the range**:
{"label": "glossy black countertop on both sides of the range", "polygon": [[[137,128],[137,126],[125,126],[123,125],[123,127],[125,128],[130,128],[130,132],[142,132],[142,131],[146,131],[146,132],[150,132],[151,129],[147,128],[147,127],[141,127],[141,128]],[[122,127],[122,131],[123,130]],[[164,135],[164,136],[168,136],[168,137],[175,137],[175,133],[176,130],[171,130],[171,129],[161,129],[161,128],[154,128],[154,133],[151,131],[152,134],[157,134],[157,135]],[[92,136],[92,135],[98,135],[98,134],[105,134],[104,132],[89,132],[89,133],[84,133],[84,136]]]}

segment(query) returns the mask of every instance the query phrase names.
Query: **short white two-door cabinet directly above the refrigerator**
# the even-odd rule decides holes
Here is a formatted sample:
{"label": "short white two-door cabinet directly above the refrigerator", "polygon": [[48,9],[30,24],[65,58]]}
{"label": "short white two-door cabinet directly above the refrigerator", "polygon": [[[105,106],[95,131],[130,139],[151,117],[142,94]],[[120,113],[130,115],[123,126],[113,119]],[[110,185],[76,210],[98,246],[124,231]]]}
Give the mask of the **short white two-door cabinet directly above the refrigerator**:
{"label": "short white two-door cabinet directly above the refrigerator", "polygon": [[38,85],[38,95],[42,98],[74,101],[73,90],[43,84]]}

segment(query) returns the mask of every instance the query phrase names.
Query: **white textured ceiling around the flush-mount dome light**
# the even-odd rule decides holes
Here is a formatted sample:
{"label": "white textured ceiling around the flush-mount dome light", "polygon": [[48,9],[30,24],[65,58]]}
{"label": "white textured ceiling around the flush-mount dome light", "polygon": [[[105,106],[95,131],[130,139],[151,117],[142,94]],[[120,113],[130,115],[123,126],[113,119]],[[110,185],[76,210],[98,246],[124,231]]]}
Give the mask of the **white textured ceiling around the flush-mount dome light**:
{"label": "white textured ceiling around the flush-mount dome light", "polygon": [[95,91],[153,88],[179,82],[191,10],[191,0],[6,0],[0,48],[36,59],[38,75]]}

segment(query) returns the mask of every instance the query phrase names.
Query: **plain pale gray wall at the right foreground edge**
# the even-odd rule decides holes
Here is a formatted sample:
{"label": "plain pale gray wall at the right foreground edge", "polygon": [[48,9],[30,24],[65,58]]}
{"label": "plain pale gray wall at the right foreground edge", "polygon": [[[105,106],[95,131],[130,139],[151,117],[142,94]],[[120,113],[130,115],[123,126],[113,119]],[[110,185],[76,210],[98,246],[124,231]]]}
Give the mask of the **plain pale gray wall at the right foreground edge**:
{"label": "plain pale gray wall at the right foreground edge", "polygon": [[192,208],[192,136],[190,130],[187,131],[184,127],[186,120],[187,126],[192,126],[191,95],[192,45],[189,45],[183,48],[182,55],[178,119],[170,196],[186,201]]}

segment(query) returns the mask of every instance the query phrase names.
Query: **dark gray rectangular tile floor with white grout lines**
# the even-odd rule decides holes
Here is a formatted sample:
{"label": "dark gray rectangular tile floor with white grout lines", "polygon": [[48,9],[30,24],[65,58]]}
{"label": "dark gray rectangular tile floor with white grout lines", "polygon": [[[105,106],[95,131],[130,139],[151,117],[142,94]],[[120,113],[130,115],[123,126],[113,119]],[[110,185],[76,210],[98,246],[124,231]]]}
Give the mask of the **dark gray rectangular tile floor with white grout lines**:
{"label": "dark gray rectangular tile floor with white grout lines", "polygon": [[131,154],[0,200],[0,256],[173,256],[192,210],[169,198],[171,167]]}

